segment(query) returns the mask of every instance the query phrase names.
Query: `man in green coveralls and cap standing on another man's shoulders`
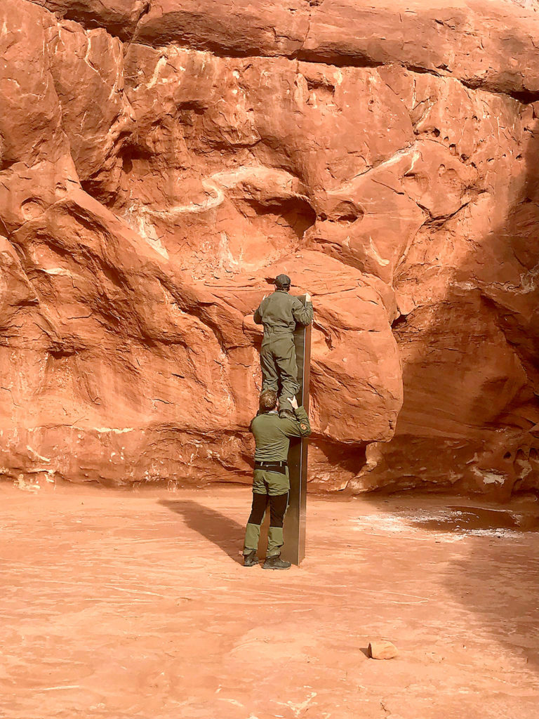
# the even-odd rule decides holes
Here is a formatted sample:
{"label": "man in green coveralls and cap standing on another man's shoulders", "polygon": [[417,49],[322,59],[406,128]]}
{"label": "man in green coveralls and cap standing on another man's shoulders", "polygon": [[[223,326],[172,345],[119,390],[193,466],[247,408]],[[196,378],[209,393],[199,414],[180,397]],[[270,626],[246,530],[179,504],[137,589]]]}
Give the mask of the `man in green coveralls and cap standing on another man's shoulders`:
{"label": "man in green coveralls and cap standing on another man's shoulders", "polygon": [[306,295],[307,304],[289,295],[290,278],[279,275],[275,279],[275,292],[264,297],[254,313],[254,321],[264,325],[264,339],[260,350],[262,391],[279,392],[281,416],[294,418],[287,402],[300,390],[298,365],[295,359],[294,330],[296,324],[308,325],[313,321],[313,303]]}

